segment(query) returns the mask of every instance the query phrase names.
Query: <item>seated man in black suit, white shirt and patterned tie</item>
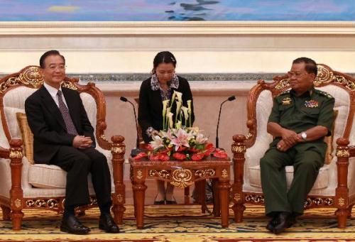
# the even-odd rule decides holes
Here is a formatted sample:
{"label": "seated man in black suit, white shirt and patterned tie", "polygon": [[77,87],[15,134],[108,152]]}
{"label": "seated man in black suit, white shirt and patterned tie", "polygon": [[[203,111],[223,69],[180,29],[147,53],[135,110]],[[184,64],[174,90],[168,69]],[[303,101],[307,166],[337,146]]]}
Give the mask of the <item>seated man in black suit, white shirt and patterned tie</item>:
{"label": "seated man in black suit, white shirt and patterned tie", "polygon": [[94,148],[94,128],[79,93],[60,86],[65,78],[65,58],[57,50],[44,53],[40,57],[40,72],[43,87],[26,99],[25,109],[33,132],[35,162],[58,165],[67,172],[60,231],[89,233],[89,228],[75,217],[74,209],[89,204],[90,172],[101,211],[99,228],[118,233],[119,227],[110,214],[111,176],[107,159]]}

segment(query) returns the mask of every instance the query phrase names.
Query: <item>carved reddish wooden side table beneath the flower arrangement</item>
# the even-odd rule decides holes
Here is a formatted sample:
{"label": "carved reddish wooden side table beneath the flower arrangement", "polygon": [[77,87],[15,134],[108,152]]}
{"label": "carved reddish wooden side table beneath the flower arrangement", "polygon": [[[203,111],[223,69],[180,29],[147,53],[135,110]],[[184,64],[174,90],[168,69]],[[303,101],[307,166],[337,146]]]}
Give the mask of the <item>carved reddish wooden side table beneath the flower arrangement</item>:
{"label": "carved reddish wooden side table beneath the flower arrangement", "polygon": [[129,158],[131,182],[133,187],[134,213],[137,228],[143,229],[144,199],[146,179],[163,180],[175,187],[189,187],[194,182],[213,179],[214,216],[222,217],[222,227],[228,227],[229,217],[229,178],[231,161],[228,159],[200,161],[136,161]]}

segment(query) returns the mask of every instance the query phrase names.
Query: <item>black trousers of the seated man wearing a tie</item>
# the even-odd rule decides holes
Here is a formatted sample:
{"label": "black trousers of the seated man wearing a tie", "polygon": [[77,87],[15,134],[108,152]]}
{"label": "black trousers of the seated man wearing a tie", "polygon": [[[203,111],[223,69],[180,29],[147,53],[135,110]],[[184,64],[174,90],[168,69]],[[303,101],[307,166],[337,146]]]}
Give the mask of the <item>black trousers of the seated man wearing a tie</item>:
{"label": "black trousers of the seated man wearing a tie", "polygon": [[87,175],[92,175],[92,185],[99,207],[111,206],[111,176],[107,158],[94,148],[77,149],[61,146],[50,161],[67,172],[65,207],[89,204]]}

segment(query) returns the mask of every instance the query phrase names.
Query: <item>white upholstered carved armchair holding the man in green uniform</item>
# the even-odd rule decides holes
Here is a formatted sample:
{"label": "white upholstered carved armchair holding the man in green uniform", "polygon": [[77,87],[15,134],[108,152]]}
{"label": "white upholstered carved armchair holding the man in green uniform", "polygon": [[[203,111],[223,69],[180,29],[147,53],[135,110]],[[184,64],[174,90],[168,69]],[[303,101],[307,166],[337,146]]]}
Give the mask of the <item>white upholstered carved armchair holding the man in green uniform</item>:
{"label": "white upholstered carved armchair holding the man in green uniform", "polygon": [[[335,99],[337,118],[334,131],[328,138],[327,161],[320,169],[315,185],[305,201],[305,209],[330,207],[337,209],[339,228],[346,227],[355,203],[355,80],[327,65],[317,65],[315,87],[328,92]],[[247,103],[248,136],[233,137],[234,184],[233,201],[236,222],[243,218],[244,204],[263,204],[261,190],[260,158],[268,149],[272,137],[266,131],[273,97],[290,89],[287,75],[274,77],[274,82],[262,80],[249,92]],[[350,144],[350,145],[349,145]],[[328,163],[328,164],[327,164]],[[286,167],[288,187],[293,180],[293,167]]]}

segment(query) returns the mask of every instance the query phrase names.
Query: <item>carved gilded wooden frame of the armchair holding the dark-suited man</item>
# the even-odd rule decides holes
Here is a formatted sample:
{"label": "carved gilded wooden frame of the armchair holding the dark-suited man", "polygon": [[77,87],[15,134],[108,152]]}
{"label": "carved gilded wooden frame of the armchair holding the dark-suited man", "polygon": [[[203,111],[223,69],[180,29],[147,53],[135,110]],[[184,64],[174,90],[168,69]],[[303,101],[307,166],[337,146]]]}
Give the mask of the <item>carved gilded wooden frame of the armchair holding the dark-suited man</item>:
{"label": "carved gilded wooden frame of the armchair holding the dark-suited man", "polygon": [[[6,221],[12,220],[13,230],[21,229],[21,221],[23,218],[23,209],[49,209],[53,211],[62,212],[63,202],[65,197],[50,197],[41,196],[40,190],[38,196],[28,197],[26,191],[23,190],[23,184],[27,181],[23,181],[24,175],[23,167],[28,167],[28,160],[24,157],[21,139],[11,138],[11,132],[9,131],[9,123],[6,121],[6,114],[4,112],[4,97],[9,91],[18,87],[27,87],[29,89],[38,89],[43,84],[43,77],[40,75],[39,67],[28,66],[20,72],[16,72],[12,75],[8,75],[0,80],[0,114],[1,122],[4,133],[6,136],[6,142],[9,143],[9,148],[0,148],[0,163],[9,163],[11,167],[11,189],[2,191],[0,194],[0,204],[3,211],[3,219]],[[88,83],[86,85],[78,84],[78,79],[65,77],[65,81],[62,86],[75,89],[80,93],[87,93],[91,95],[96,103],[97,115],[96,115],[96,127],[95,136],[97,138],[97,146],[103,150],[111,150],[112,159],[109,163],[112,163],[113,167],[113,180],[114,180],[114,192],[112,193],[113,199],[113,211],[114,220],[118,224],[122,224],[124,214],[125,203],[125,186],[123,182],[123,163],[125,145],[123,143],[124,137],[113,136],[112,142],[107,141],[104,136],[104,131],[107,128],[105,121],[106,117],[106,101],[102,92],[95,87],[94,83]],[[33,90],[34,92],[34,90]],[[23,104],[24,105],[23,97]],[[24,109],[24,108],[23,108]],[[109,152],[107,152],[109,155]],[[26,163],[26,164],[25,164]],[[4,170],[0,170],[4,172]],[[9,174],[1,174],[2,177],[9,176]],[[85,209],[97,206],[95,197],[92,197],[92,204],[85,207],[78,208],[78,212],[84,212]]]}

